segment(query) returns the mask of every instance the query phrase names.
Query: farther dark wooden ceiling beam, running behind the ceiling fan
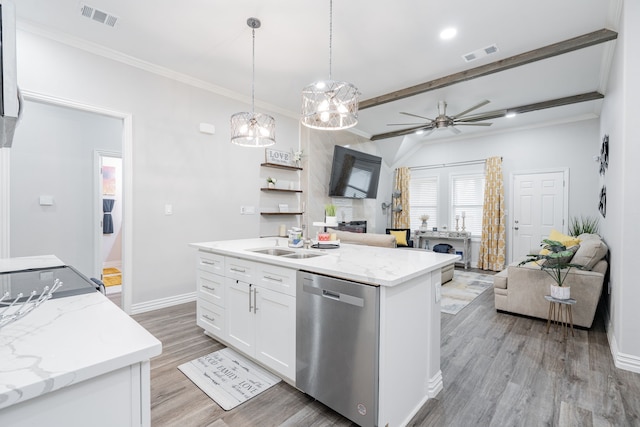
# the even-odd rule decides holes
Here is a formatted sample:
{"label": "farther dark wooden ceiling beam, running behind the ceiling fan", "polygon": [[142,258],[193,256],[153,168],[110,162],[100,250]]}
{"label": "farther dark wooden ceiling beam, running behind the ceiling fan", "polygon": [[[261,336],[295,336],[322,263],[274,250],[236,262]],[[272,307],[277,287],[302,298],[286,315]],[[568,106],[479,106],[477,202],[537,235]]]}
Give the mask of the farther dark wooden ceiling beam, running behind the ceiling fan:
{"label": "farther dark wooden ceiling beam, running behind the ceiling fan", "polygon": [[[587,92],[580,95],[565,96],[564,98],[552,99],[550,101],[536,102],[533,104],[521,105],[519,107],[505,108],[502,110],[489,111],[487,113],[476,114],[475,116],[467,116],[461,119],[462,123],[473,124],[474,122],[480,122],[484,120],[498,119],[506,116],[508,113],[522,114],[529,113],[531,111],[545,110],[547,108],[561,107],[563,105],[577,104],[580,102],[594,101],[596,99],[602,99],[604,95],[600,92]],[[371,137],[371,141],[377,141],[379,139],[393,138],[396,136],[409,135],[415,133],[419,129],[425,129],[427,123],[421,126],[414,126],[407,129],[400,129],[392,132],[379,133]]]}

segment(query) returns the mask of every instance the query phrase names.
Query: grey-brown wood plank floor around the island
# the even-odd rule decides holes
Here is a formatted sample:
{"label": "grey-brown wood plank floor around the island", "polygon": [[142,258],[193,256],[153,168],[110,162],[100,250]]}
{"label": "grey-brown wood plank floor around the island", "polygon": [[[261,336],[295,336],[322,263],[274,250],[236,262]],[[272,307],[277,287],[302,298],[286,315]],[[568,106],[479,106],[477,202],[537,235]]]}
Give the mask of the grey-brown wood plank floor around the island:
{"label": "grey-brown wood plank floor around the island", "polygon": [[[284,382],[222,410],[178,369],[222,348],[195,324],[195,303],[135,315],[162,341],[151,361],[151,420],[162,426],[350,426]],[[640,426],[640,374],[616,369],[600,315],[563,340],[546,322],[496,313],[493,290],[442,314],[444,390],[411,426]]]}

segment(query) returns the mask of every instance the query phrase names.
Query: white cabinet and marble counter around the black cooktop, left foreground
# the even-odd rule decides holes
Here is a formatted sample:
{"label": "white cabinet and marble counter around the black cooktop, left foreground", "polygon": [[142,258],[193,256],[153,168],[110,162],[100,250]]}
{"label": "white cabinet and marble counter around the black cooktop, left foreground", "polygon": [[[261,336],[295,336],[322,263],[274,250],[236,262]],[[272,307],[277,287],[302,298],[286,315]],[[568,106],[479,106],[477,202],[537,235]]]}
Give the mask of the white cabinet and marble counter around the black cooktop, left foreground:
{"label": "white cabinet and marble counter around the black cooktop, left foreground", "polygon": [[[0,272],[63,265],[55,256],[2,259]],[[0,329],[0,425],[149,426],[149,359],[161,350],[101,293],[54,294]]]}

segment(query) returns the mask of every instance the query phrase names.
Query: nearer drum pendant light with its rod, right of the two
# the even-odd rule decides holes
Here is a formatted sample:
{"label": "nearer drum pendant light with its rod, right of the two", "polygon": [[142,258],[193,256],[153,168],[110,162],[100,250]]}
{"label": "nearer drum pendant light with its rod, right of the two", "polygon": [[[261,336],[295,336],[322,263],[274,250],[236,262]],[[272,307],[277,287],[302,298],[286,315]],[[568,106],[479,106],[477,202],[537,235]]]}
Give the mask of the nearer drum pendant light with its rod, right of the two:
{"label": "nearer drum pendant light with its rod, right of the two", "polygon": [[322,130],[348,129],[358,123],[358,89],[331,77],[333,0],[329,0],[329,80],[310,84],[302,90],[302,124]]}

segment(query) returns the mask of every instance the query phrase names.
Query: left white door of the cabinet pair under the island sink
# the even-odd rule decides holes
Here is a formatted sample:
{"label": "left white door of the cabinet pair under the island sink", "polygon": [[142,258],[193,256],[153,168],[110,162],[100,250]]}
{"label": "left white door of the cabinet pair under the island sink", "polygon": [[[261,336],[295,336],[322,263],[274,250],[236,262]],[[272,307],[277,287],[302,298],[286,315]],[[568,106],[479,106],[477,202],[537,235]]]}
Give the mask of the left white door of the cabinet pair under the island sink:
{"label": "left white door of the cabinet pair under the island sink", "polygon": [[249,356],[255,353],[253,287],[237,279],[226,278],[227,340]]}

